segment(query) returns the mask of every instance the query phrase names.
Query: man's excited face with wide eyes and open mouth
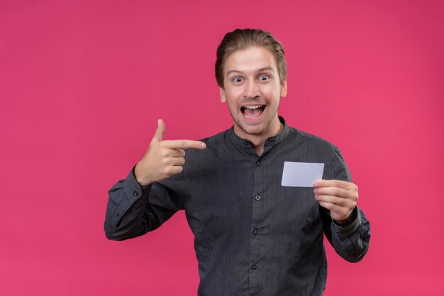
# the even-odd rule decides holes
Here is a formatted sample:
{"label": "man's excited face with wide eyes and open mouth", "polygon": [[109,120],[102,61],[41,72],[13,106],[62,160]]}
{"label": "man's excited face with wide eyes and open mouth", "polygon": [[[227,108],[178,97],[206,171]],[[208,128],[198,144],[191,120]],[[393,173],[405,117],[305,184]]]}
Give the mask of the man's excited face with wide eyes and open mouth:
{"label": "man's excited face with wide eyes and open mouth", "polygon": [[280,127],[277,109],[287,95],[287,80],[281,84],[272,53],[265,47],[233,52],[223,75],[221,101],[228,104],[236,135],[273,136]]}

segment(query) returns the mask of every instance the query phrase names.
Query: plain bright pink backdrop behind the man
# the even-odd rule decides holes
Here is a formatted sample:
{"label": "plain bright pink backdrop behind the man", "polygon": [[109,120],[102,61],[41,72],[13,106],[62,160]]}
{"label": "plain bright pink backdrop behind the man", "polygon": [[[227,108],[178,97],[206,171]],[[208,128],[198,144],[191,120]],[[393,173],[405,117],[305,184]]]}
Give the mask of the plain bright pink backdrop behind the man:
{"label": "plain bright pink backdrop behind the man", "polygon": [[362,262],[328,246],[325,295],[442,295],[444,5],[420,0],[1,1],[1,295],[196,295],[183,212],[108,241],[107,190],[157,118],[231,126],[213,64],[238,27],[282,41],[280,113],[340,147],[372,223]]}

